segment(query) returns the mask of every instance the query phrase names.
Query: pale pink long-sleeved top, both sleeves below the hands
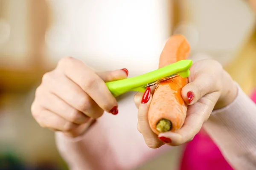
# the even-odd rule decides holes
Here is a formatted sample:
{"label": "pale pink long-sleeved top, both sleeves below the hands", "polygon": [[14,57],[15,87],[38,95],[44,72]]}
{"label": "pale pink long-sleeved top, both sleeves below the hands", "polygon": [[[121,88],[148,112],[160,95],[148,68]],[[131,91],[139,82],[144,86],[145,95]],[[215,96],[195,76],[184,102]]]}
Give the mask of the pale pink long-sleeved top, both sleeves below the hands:
{"label": "pale pink long-sleeved top, both sleeves below the hands", "polygon": [[[61,155],[71,170],[128,170],[172,147],[150,149],[137,132],[137,112],[131,97],[119,99],[118,116],[104,114],[83,136],[68,138],[56,133]],[[255,96],[254,96],[255,97]],[[135,107],[136,108],[136,107]],[[239,88],[229,106],[212,112],[204,129],[230,165],[237,170],[256,169],[256,105]],[[207,150],[210,149],[208,146]]]}

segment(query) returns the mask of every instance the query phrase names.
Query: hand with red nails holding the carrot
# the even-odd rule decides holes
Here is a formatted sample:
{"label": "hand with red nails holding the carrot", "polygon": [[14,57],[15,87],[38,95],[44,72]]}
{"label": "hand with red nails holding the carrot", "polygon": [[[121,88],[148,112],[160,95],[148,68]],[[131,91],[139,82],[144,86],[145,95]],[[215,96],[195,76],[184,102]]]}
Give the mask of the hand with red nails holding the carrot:
{"label": "hand with red nails holding the carrot", "polygon": [[[188,104],[183,127],[177,133],[166,132],[158,136],[152,132],[148,124],[148,109],[152,95],[137,93],[134,96],[134,102],[139,108],[137,128],[149,147],[157,148],[164,143],[176,146],[191,141],[214,109],[221,109],[233,102],[237,95],[237,87],[218,62],[207,59],[192,65],[189,84],[183,87],[181,93]],[[144,104],[141,104],[142,102]]]}

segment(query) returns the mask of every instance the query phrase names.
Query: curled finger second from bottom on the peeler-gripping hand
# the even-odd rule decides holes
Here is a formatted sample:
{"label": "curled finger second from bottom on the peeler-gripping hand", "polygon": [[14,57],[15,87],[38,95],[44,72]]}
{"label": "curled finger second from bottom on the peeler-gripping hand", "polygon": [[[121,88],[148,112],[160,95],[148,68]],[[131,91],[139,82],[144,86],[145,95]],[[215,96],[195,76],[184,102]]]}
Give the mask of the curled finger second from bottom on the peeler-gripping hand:
{"label": "curled finger second from bottom on the peeler-gripping hand", "polygon": [[78,111],[76,108],[73,108],[52,93],[41,95],[40,98],[38,97],[38,102],[41,103],[41,107],[46,108],[48,111],[52,111],[69,122],[82,124],[90,119],[84,113]]}

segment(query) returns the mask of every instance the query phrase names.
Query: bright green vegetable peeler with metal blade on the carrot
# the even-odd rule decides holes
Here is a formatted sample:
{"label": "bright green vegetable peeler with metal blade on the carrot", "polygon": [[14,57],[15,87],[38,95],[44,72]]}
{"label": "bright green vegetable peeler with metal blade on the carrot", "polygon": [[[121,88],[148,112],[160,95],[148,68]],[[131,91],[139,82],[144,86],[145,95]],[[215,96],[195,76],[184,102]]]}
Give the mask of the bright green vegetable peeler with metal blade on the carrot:
{"label": "bright green vegetable peeler with metal blade on the carrot", "polygon": [[106,82],[106,85],[114,97],[125,94],[128,91],[145,92],[147,87],[157,85],[174,77],[189,77],[191,65],[192,60],[185,59],[137,77]]}

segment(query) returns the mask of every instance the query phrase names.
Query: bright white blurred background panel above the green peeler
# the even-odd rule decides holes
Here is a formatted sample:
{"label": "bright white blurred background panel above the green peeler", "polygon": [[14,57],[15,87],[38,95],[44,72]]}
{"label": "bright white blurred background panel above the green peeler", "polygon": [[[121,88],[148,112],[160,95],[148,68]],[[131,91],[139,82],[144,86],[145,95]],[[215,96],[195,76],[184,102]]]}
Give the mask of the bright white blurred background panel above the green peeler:
{"label": "bright white blurred background panel above the green peeler", "polygon": [[171,32],[169,0],[48,2],[54,11],[46,35],[46,51],[52,61],[72,55],[98,70],[109,56],[122,56],[122,63],[132,57],[141,62],[145,58],[138,56],[156,58]]}

